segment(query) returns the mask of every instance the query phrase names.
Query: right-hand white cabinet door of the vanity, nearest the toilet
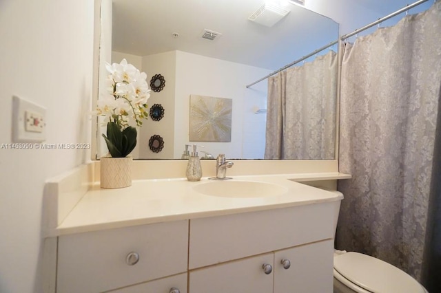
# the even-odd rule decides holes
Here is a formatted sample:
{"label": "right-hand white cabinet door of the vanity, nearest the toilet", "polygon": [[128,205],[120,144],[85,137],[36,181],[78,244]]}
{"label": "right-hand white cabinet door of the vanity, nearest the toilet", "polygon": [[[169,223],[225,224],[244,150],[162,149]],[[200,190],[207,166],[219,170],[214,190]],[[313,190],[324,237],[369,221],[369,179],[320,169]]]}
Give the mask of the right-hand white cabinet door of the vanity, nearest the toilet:
{"label": "right-hand white cabinet door of the vanity, nearest the toilet", "polygon": [[[332,293],[333,257],[333,239],[276,252],[274,293]],[[291,266],[283,268],[282,260]]]}

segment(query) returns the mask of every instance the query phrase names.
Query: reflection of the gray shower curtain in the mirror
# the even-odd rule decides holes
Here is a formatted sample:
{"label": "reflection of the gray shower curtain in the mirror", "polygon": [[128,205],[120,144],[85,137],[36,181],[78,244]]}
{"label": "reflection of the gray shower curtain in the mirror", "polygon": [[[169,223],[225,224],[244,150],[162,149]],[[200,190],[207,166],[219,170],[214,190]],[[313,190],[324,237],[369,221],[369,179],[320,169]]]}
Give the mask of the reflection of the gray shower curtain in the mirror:
{"label": "reflection of the gray shower curtain in the mirror", "polygon": [[334,160],[337,54],[268,78],[265,159]]}

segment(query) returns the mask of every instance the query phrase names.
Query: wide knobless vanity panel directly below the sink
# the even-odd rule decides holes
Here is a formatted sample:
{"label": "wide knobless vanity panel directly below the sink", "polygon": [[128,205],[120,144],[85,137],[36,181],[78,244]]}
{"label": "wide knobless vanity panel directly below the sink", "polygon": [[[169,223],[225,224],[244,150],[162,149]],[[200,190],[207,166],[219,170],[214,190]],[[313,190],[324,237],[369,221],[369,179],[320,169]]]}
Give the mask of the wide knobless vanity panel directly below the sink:
{"label": "wide knobless vanity panel directly below the sink", "polygon": [[334,238],[334,203],[190,220],[189,269]]}

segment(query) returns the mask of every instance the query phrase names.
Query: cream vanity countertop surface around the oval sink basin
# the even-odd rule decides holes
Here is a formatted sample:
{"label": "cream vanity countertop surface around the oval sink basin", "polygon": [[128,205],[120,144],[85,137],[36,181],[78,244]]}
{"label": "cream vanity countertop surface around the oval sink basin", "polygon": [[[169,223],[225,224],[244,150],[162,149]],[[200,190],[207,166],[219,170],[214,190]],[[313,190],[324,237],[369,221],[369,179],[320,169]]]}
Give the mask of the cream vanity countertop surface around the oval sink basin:
{"label": "cream vanity countertop surface around the oval sink basin", "polygon": [[[96,183],[51,234],[68,235],[342,199],[336,193],[292,181],[297,176],[234,176],[232,180],[267,182],[287,188],[282,195],[247,198],[216,197],[193,191],[192,187],[197,184],[212,182],[207,177],[198,182],[188,182],[185,178],[134,180],[132,186],[118,189],[103,189]],[[322,180],[335,177],[335,174],[324,174]],[[300,176],[296,181],[307,178],[307,175]]]}

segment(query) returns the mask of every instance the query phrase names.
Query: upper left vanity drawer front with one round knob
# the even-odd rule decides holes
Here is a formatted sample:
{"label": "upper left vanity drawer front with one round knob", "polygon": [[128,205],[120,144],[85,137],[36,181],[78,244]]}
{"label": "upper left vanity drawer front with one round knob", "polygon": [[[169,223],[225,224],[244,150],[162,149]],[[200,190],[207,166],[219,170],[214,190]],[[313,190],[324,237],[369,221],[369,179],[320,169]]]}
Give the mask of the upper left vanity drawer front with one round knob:
{"label": "upper left vanity drawer front with one round knob", "polygon": [[103,292],[186,272],[187,243],[188,221],[61,236],[57,292]]}

